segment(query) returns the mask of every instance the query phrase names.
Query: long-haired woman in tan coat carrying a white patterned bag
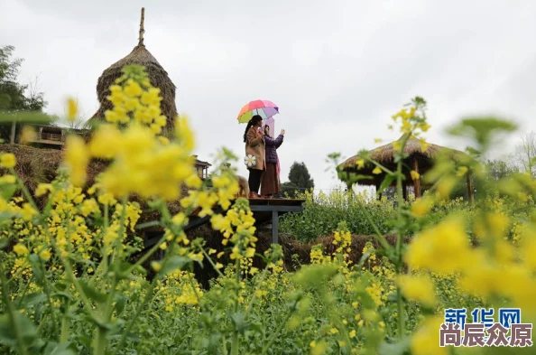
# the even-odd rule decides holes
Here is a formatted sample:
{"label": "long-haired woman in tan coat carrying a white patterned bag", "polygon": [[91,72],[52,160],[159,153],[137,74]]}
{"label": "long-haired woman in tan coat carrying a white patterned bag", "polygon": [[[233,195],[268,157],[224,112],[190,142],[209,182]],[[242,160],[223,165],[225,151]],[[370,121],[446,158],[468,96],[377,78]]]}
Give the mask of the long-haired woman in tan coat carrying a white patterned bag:
{"label": "long-haired woman in tan coat carrying a white patterned bag", "polygon": [[249,171],[249,197],[254,199],[259,197],[259,187],[266,168],[264,163],[265,146],[263,132],[263,117],[255,115],[251,117],[245,126],[245,165]]}

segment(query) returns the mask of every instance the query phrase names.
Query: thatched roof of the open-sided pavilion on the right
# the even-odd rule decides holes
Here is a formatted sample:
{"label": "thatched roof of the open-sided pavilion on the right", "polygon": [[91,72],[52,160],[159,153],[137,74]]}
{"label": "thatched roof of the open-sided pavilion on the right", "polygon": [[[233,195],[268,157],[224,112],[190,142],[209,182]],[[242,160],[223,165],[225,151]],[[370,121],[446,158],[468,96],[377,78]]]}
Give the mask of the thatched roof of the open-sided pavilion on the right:
{"label": "thatched roof of the open-sided pavilion on the right", "polygon": [[[403,135],[398,139],[398,141],[402,141]],[[377,148],[371,150],[368,152],[371,159],[374,161],[383,164],[386,168],[390,170],[395,170],[395,163],[393,162],[394,158],[394,147],[393,143],[389,143],[387,145],[381,145]],[[457,160],[461,157],[467,157],[467,154],[464,152],[458,151],[456,149],[451,149],[445,146],[441,145],[432,145],[430,143],[427,143],[428,147],[426,150],[422,151],[420,141],[417,138],[411,137],[406,142],[406,145],[404,147],[404,153],[409,155],[408,158],[404,160],[404,163],[412,167],[412,163],[414,160],[417,161],[419,166],[419,173],[426,173],[431,166],[434,163],[434,159],[439,154],[447,154],[450,158]],[[375,185],[378,182],[381,182],[384,179],[384,173],[374,175],[372,171],[374,170],[374,165],[370,163],[365,163],[365,166],[361,169],[357,169],[356,161],[359,159],[359,154],[356,154],[350,158],[348,158],[345,162],[340,163],[338,165],[338,170],[341,170],[343,172],[347,173],[358,173],[360,175],[371,175],[372,179],[363,179],[360,180],[358,183],[361,185]],[[406,173],[406,180],[411,181],[411,175],[410,175],[411,169],[404,169],[404,173]]]}

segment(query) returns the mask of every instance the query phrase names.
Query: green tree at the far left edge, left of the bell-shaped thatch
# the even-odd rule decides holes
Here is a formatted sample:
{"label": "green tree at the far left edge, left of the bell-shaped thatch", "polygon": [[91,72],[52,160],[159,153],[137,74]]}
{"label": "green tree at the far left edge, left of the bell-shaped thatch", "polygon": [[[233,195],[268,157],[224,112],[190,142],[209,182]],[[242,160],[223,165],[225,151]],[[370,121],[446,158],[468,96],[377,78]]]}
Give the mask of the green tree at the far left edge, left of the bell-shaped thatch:
{"label": "green tree at the far left edge, left of the bell-shaped thatch", "polygon": [[[0,113],[15,114],[24,111],[42,113],[47,105],[44,94],[38,88],[37,79],[29,84],[21,84],[18,80],[23,59],[14,58],[14,46],[0,47]],[[53,117],[40,116],[40,121],[51,123]],[[22,118],[19,123],[24,123]],[[15,123],[0,122],[0,137],[7,139],[16,135]]]}

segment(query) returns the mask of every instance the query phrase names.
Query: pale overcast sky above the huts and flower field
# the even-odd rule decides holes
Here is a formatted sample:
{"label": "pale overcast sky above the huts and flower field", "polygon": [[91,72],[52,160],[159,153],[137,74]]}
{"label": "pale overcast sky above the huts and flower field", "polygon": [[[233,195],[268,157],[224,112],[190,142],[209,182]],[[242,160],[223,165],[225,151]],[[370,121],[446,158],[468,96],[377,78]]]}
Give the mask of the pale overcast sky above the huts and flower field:
{"label": "pale overcast sky above the huts and flower field", "polygon": [[144,6],[146,48],[177,86],[199,159],[223,145],[242,157],[238,111],[269,99],[280,107],[276,131],[287,131],[282,181],[292,162],[304,162],[327,190],[337,185],[325,172],[327,155],[348,157],[374,148],[375,137],[398,138],[386,125],[416,95],[429,103],[432,143],[464,148],[443,129],[467,115],[503,115],[536,130],[535,4],[0,0],[0,44],[24,59],[20,79],[39,75],[48,112],[62,114],[70,95],[90,117],[97,79],[136,45]]}

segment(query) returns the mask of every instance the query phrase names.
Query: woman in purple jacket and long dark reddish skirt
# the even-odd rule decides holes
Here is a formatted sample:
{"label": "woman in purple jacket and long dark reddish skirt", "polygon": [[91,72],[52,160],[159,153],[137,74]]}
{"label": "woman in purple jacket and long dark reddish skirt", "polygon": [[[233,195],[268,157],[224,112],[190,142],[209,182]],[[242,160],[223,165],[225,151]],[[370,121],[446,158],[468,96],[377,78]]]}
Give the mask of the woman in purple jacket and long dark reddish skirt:
{"label": "woman in purple jacket and long dark reddish skirt", "polygon": [[281,193],[281,182],[279,180],[279,159],[277,148],[282,145],[285,130],[282,129],[281,135],[273,139],[270,135],[270,127],[264,126],[264,144],[266,149],[266,170],[263,173],[263,182],[261,184],[261,195],[271,198],[273,195]]}

